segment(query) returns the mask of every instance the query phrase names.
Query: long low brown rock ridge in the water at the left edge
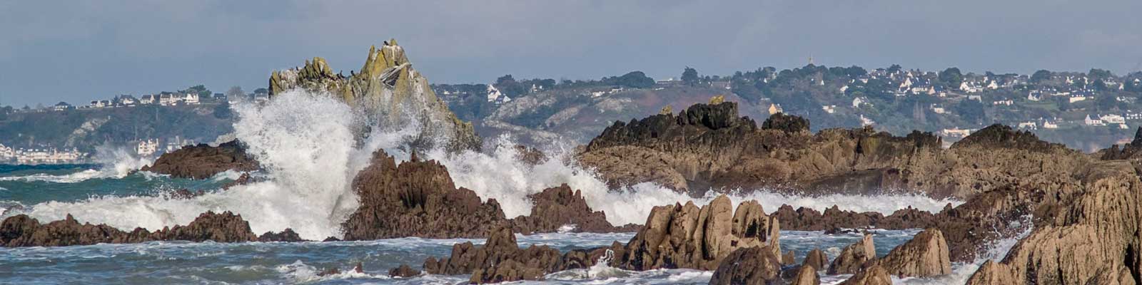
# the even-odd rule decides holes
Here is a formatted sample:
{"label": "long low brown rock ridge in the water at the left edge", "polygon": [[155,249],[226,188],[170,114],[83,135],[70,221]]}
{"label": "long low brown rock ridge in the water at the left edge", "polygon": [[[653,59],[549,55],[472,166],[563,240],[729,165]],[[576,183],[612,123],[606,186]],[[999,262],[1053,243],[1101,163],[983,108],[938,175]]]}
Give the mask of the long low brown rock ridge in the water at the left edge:
{"label": "long low brown rock ridge in the water at the left edge", "polygon": [[123,244],[153,241],[188,241],[218,243],[254,242],[258,236],[241,215],[231,212],[200,214],[186,226],[156,231],[136,228],[128,233],[106,225],[79,223],[71,214],[66,219],[41,225],[25,214],[8,217],[0,223],[0,244],[18,246],[69,246],[99,243]]}

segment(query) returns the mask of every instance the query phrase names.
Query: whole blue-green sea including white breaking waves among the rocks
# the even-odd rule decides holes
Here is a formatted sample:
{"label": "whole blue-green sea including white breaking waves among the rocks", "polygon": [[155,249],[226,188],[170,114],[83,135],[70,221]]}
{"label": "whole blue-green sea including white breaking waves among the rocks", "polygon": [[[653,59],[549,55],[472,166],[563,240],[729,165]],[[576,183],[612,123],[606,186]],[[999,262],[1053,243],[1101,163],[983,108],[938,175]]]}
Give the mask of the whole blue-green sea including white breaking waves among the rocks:
{"label": "whole blue-green sea including white breaking waves among the rocks", "polygon": [[[339,225],[357,204],[352,178],[379,149],[407,161],[401,141],[419,133],[416,124],[373,125],[355,135],[362,123],[346,105],[322,96],[292,91],[264,105],[235,106],[234,136],[244,141],[263,169],[257,182],[220,189],[241,173],[227,171],[204,180],[171,178],[138,171],[152,158],[135,157],[126,147],[100,147],[97,163],[63,165],[0,165],[0,218],[29,214],[41,222],[72,214],[80,222],[106,223],[123,230],[186,225],[206,211],[232,211],[257,233],[291,228],[303,238],[340,237]],[[718,193],[701,197],[638,184],[611,189],[588,168],[570,158],[573,146],[542,148],[550,158],[539,164],[516,158],[509,135],[486,138],[484,152],[418,154],[445,165],[457,187],[497,199],[507,217],[528,214],[526,196],[568,184],[582,192],[594,210],[611,223],[643,223],[656,205],[703,205]],[[202,190],[192,198],[171,195],[178,189]],[[788,204],[823,211],[876,211],[884,214],[908,206],[936,212],[955,199],[922,195],[796,195],[766,189],[727,194],[734,204],[754,199],[766,211]],[[571,225],[569,225],[571,226]],[[573,227],[568,227],[573,228]],[[911,238],[919,229],[871,230],[878,255]],[[560,251],[626,243],[633,233],[552,233],[517,235],[521,246],[549,245]],[[813,249],[829,258],[861,238],[861,234],[781,231],[781,246],[798,262]],[[1016,237],[1018,238],[1018,237]],[[935,278],[894,279],[895,284],[963,284],[983,261],[1000,259],[1016,239],[981,249],[973,262],[955,263],[954,274]],[[429,256],[448,256],[453,244],[483,239],[394,238],[362,242],[97,244],[62,247],[0,249],[0,284],[466,284],[468,276],[421,275],[391,278],[400,264],[419,269]],[[355,272],[361,263],[363,272]],[[605,262],[604,262],[605,263]],[[319,275],[330,268],[341,274]],[[847,275],[825,276],[837,284]],[[691,269],[628,271],[606,266],[554,272],[541,282],[522,284],[706,284],[713,272]]]}

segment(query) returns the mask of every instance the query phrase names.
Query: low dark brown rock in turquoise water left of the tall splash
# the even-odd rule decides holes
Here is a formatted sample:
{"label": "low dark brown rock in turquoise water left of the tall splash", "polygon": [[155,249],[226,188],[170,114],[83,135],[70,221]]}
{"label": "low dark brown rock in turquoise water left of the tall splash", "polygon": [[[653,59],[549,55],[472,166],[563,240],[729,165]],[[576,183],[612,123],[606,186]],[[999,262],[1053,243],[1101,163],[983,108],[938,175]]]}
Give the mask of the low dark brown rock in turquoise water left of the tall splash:
{"label": "low dark brown rock in turquoise water left of the tall splash", "polygon": [[175,178],[207,179],[223,171],[255,171],[258,162],[246,153],[246,147],[232,140],[212,147],[206,144],[185,146],[159,156],[142,171],[169,174]]}

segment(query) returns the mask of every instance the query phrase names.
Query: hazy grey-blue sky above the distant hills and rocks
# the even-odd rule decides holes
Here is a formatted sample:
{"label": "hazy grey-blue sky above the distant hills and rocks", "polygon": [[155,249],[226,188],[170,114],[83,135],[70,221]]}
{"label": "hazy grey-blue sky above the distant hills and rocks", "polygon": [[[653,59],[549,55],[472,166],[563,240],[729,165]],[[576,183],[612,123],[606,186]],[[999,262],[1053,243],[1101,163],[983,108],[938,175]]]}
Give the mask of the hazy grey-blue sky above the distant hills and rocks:
{"label": "hazy grey-blue sky above the distant hills and rocks", "polygon": [[677,78],[762,66],[1116,74],[1142,70],[1142,1],[0,1],[0,105],[267,84],[391,38],[434,83]]}

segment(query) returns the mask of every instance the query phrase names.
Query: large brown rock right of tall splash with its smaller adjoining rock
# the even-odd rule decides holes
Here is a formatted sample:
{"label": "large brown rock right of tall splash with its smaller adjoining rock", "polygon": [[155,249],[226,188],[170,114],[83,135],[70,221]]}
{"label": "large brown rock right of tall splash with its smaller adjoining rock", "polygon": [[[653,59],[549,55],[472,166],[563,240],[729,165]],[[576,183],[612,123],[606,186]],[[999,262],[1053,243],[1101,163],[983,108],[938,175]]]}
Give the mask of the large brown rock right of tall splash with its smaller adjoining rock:
{"label": "large brown rock right of tall splash with its smaller adjoining rock", "polygon": [[395,237],[485,237],[497,227],[518,233],[554,233],[565,225],[574,231],[634,231],[637,226],[614,227],[602,211],[593,211],[582,194],[571,187],[544,189],[530,198],[530,215],[506,219],[496,199],[481,202],[476,193],[456,188],[444,165],[420,161],[416,154],[397,165],[384,150],[353,179],[360,206],[341,223],[346,241]]}

